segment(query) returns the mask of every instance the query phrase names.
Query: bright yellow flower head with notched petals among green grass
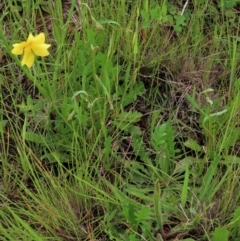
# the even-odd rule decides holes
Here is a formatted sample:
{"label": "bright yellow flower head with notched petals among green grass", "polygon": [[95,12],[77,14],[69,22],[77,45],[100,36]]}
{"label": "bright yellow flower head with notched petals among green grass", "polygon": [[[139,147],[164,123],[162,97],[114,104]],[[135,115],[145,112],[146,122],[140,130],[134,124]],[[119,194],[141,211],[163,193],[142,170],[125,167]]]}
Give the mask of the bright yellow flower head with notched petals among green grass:
{"label": "bright yellow flower head with notched petals among green grass", "polygon": [[28,68],[31,68],[35,55],[41,57],[48,56],[49,52],[47,49],[50,46],[50,44],[45,44],[44,33],[40,33],[35,37],[30,33],[27,41],[13,44],[12,54],[23,54],[22,65],[27,65]]}

